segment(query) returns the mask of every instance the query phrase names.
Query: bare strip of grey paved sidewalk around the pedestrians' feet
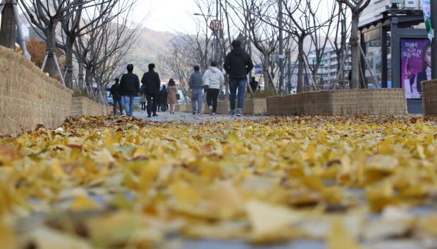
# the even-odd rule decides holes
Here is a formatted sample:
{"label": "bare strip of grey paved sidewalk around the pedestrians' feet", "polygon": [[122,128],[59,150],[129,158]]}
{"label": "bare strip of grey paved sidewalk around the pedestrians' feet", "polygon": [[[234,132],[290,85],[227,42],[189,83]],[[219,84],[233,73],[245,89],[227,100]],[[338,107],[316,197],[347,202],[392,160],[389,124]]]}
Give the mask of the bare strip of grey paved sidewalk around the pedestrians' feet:
{"label": "bare strip of grey paved sidewalk around the pedestrians' feet", "polygon": [[160,121],[160,122],[166,122],[166,121],[173,121],[173,120],[180,120],[181,122],[189,122],[189,123],[196,123],[196,122],[223,122],[223,121],[232,121],[232,120],[242,120],[242,119],[250,119],[250,120],[258,120],[263,119],[268,116],[254,116],[254,115],[243,115],[242,117],[233,116],[230,115],[209,115],[209,114],[196,114],[192,115],[192,113],[182,113],[182,112],[176,112],[175,114],[170,114],[167,112],[160,112],[156,113],[158,117],[147,117],[146,112],[142,111],[134,111],[133,116],[134,117],[140,117],[144,120],[152,120],[152,121]]}

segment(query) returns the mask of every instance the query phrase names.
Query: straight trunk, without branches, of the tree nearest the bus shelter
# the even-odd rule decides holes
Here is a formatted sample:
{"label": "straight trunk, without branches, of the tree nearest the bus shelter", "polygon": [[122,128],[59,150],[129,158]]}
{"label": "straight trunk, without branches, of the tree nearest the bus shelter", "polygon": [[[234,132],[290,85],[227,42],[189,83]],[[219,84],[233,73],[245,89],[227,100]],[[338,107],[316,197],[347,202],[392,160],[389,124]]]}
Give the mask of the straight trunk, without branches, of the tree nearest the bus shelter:
{"label": "straight trunk, without branches, of the tree nearest the bus shelter", "polygon": [[352,78],[350,82],[350,89],[359,88],[359,48],[358,48],[358,23],[359,14],[352,11],[352,26],[350,33],[350,46],[351,46],[351,62],[352,62]]}

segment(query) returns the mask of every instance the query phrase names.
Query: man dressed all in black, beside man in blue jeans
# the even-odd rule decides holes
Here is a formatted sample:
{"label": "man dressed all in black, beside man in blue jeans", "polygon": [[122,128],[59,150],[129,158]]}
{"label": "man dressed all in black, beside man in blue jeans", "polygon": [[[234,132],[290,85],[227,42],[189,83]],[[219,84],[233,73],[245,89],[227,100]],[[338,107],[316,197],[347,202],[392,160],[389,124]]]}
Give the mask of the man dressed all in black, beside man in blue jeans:
{"label": "man dressed all in black, beside man in blue jeans", "polygon": [[161,86],[161,79],[159,74],[154,71],[155,64],[149,64],[149,72],[144,72],[141,82],[146,85],[145,92],[147,94],[147,117],[152,117],[156,114],[156,107],[159,101],[159,87]]}

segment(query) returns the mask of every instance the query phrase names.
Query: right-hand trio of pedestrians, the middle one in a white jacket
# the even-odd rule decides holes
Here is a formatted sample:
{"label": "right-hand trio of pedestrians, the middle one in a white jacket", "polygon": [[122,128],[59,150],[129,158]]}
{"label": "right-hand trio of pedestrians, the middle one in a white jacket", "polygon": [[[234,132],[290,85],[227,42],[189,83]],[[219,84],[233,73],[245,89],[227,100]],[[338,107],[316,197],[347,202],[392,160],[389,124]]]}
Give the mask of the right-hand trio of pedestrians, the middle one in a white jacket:
{"label": "right-hand trio of pedestrians, the middle one in a white jacket", "polygon": [[[241,41],[232,42],[233,49],[226,55],[223,69],[229,76],[229,106],[230,115],[242,115],[242,107],[245,101],[245,87],[247,84],[247,74],[252,70],[253,63],[250,55],[241,47]],[[221,87],[225,82],[223,72],[217,68],[216,61],[212,61],[209,68],[200,72],[198,65],[194,67],[195,72],[190,76],[191,106],[192,114],[202,113],[203,93],[207,94],[207,104],[209,114],[215,115],[217,110],[217,98],[223,94]],[[237,110],[235,111],[235,98],[237,97]]]}

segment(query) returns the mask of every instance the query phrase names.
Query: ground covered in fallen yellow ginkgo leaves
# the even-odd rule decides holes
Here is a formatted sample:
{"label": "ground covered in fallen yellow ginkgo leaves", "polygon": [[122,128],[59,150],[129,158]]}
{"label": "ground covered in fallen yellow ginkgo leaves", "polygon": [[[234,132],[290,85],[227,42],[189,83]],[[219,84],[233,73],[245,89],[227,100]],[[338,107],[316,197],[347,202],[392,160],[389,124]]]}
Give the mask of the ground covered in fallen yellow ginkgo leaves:
{"label": "ground covered in fallen yellow ginkgo leaves", "polygon": [[1,248],[436,248],[437,125],[82,117],[0,140]]}

